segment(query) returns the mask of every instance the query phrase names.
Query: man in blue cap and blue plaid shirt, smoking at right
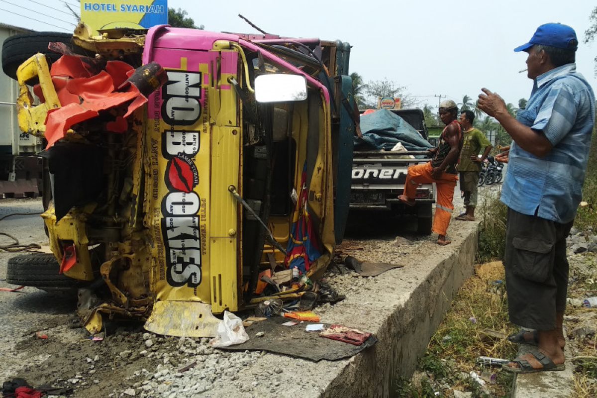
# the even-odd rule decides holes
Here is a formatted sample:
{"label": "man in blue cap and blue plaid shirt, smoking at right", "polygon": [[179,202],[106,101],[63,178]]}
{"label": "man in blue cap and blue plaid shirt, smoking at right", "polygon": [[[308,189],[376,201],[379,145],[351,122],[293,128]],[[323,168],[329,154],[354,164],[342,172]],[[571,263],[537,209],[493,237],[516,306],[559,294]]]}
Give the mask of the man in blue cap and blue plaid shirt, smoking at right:
{"label": "man in blue cap and blue plaid shirt, smoking at right", "polygon": [[577,45],[570,26],[547,23],[515,48],[528,53],[527,76],[533,79],[527,107],[516,118],[496,93],[483,88],[479,95],[479,109],[496,118],[513,140],[501,192],[508,206],[508,310],[513,323],[534,332],[509,340],[538,345],[504,365],[507,371],[564,369],[566,237],[581,200],[595,123],[595,95],[576,72]]}

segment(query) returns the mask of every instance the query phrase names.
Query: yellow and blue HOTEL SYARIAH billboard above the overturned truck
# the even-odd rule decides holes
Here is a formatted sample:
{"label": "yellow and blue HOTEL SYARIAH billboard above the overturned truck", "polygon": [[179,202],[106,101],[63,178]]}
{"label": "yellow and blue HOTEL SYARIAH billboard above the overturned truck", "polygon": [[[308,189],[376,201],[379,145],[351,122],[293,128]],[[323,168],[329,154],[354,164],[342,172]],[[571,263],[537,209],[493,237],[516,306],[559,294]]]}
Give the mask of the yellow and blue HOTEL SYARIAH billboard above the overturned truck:
{"label": "yellow and blue HOTEL SYARIAH billboard above the overturned truck", "polygon": [[81,21],[94,34],[103,29],[149,29],[168,23],[167,0],[82,1]]}

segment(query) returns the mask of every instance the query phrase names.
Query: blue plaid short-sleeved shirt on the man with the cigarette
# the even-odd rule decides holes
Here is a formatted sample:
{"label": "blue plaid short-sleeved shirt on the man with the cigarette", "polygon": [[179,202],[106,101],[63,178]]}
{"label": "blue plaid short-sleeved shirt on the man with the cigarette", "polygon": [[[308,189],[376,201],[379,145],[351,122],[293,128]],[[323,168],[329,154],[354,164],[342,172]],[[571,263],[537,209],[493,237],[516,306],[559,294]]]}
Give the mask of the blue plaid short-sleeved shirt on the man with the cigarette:
{"label": "blue plaid short-sleeved shirt on the man with the cigarette", "polygon": [[543,131],[553,148],[538,158],[512,143],[501,201],[522,214],[557,223],[574,220],[595,123],[595,94],[576,63],[538,76],[516,119]]}

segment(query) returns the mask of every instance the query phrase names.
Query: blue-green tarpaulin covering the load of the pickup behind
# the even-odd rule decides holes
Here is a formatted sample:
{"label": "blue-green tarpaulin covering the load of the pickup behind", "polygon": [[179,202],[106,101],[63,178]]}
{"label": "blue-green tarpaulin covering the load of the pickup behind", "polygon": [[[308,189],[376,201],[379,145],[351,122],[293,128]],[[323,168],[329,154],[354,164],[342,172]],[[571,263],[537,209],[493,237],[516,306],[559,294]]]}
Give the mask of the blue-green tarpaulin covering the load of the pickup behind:
{"label": "blue-green tarpaulin covering the load of the pickup behind", "polygon": [[390,150],[399,142],[407,150],[433,147],[413,126],[387,109],[361,115],[361,131],[363,137],[355,137],[355,150]]}

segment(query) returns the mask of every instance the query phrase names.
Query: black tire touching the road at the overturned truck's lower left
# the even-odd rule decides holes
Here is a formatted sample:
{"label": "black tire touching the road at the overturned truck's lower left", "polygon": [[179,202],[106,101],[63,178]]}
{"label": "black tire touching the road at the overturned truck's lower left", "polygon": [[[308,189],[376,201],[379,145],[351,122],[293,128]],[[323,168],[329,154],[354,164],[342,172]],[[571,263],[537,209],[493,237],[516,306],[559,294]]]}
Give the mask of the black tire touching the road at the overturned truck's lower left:
{"label": "black tire touching the road at the overturned truck's lower left", "polygon": [[60,264],[53,254],[27,254],[8,260],[6,282],[48,290],[76,289],[86,283],[59,274]]}

